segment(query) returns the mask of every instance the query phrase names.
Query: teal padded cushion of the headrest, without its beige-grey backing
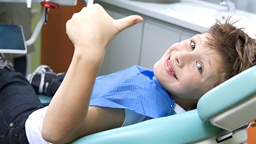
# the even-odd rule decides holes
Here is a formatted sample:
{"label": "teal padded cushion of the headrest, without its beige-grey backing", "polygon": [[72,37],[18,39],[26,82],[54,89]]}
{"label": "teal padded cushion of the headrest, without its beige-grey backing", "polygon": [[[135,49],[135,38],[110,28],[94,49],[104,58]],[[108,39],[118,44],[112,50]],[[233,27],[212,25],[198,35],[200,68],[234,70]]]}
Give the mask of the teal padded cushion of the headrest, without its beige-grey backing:
{"label": "teal padded cushion of the headrest, without its beige-grey backing", "polygon": [[244,70],[205,93],[198,101],[198,116],[208,121],[256,93],[256,66]]}

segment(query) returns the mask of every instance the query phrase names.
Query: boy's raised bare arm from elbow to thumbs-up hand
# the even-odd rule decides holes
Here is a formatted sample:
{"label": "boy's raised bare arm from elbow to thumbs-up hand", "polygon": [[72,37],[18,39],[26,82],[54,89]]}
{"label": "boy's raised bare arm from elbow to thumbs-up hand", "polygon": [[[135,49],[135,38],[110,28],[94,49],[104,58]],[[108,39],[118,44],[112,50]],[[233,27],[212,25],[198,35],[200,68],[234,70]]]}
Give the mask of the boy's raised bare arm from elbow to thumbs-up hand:
{"label": "boy's raised bare arm from elbow to thumbs-up hand", "polygon": [[[120,31],[138,22],[143,22],[138,15],[114,20],[99,4],[83,8],[67,21],[67,35],[74,44],[74,56],[45,115],[42,128],[45,140],[68,143],[90,133],[93,125],[97,125],[90,120],[88,107],[106,48]],[[89,121],[91,129],[85,129]],[[81,129],[84,134],[77,136]]]}

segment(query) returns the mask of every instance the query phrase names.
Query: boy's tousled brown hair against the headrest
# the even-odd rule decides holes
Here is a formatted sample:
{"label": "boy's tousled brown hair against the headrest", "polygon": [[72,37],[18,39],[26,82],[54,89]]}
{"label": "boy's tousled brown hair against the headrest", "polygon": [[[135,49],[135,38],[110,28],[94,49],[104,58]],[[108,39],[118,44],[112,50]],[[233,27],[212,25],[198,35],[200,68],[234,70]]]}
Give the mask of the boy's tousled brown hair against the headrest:
{"label": "boy's tousled brown hair against the headrest", "polygon": [[223,24],[216,20],[206,31],[211,35],[206,46],[220,54],[220,74],[216,86],[256,64],[255,39],[244,33],[242,28],[233,26],[237,21],[230,23],[230,18]]}

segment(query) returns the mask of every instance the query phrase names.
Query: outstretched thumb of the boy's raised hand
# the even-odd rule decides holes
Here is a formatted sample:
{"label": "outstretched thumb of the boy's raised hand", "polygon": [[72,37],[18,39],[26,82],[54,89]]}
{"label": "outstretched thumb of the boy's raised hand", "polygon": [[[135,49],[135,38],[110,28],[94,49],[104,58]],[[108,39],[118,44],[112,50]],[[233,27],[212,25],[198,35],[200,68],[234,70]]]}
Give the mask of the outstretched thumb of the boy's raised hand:
{"label": "outstretched thumb of the boy's raised hand", "polygon": [[143,22],[143,18],[139,15],[131,15],[128,17],[124,17],[122,19],[114,20],[113,24],[117,29],[117,32],[121,32],[124,29],[127,29],[135,24]]}

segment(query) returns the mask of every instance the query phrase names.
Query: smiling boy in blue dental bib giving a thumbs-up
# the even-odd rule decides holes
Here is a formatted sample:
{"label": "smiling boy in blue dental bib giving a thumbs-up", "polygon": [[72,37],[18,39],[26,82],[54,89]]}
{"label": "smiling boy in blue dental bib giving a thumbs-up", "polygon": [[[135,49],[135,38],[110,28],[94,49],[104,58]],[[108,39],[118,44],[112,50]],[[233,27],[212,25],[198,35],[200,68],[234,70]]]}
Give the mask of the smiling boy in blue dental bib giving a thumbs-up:
{"label": "smiling boy in blue dental bib giving a thumbs-up", "polygon": [[[23,131],[22,134],[24,134],[24,123],[22,122],[26,120],[26,135],[20,137],[24,139],[27,137],[30,143],[38,143],[38,141],[69,143],[94,132],[120,127],[129,118],[139,117],[137,120],[129,120],[129,124],[134,124],[149,118],[172,115],[175,112],[172,109],[175,107],[174,103],[186,110],[193,109],[197,100],[205,92],[255,65],[255,40],[227,22],[224,25],[217,22],[206,33],[172,45],[154,65],[154,73],[152,70],[135,66],[109,76],[97,77],[109,42],[123,29],[142,21],[143,19],[136,15],[113,20],[98,4],[75,13],[72,19],[68,20],[66,26],[67,34],[75,47],[74,57],[67,74],[48,107],[43,108],[47,104],[40,104],[40,102],[36,102],[38,99],[34,98],[33,102],[26,101],[29,105],[33,105],[28,112],[22,111],[16,114],[17,116],[22,113],[22,116],[18,118],[19,124],[23,125],[23,127],[19,127]],[[233,38],[236,39],[233,40]],[[220,47],[216,47],[216,45]],[[6,63],[3,61],[2,65]],[[6,68],[8,67],[4,65],[3,70],[0,70],[0,79],[3,83],[0,83],[1,106],[2,103],[5,106],[6,100],[9,100],[9,107],[5,106],[4,111],[13,108],[15,104],[18,106],[17,103],[14,103],[10,108],[13,98],[22,96],[20,99],[24,99],[26,95],[36,97],[24,77],[8,72]],[[8,82],[10,78],[17,77],[20,78],[20,80],[17,79],[19,83],[13,84],[14,80],[12,83]],[[118,79],[119,77],[120,79]],[[121,85],[112,78],[120,80]],[[123,79],[124,81],[122,81]],[[136,81],[134,81],[135,79]],[[111,80],[115,83],[114,86],[111,84]],[[100,84],[99,81],[102,81],[103,84]],[[17,89],[26,88],[26,92],[20,90],[18,92],[22,94],[17,94],[17,92],[9,94],[10,90],[15,90],[13,85],[16,85]],[[106,91],[103,86],[113,89]],[[102,91],[104,91],[103,95],[101,95]],[[2,92],[4,92],[3,96]],[[141,94],[141,92],[143,93]],[[29,93],[33,93],[33,95]],[[115,93],[116,95],[113,95]],[[129,98],[132,100],[127,102]],[[125,102],[127,103],[125,104]],[[139,106],[136,107],[136,105]],[[24,106],[22,106],[23,108]],[[20,111],[20,108],[17,111]],[[4,113],[5,115],[8,113]],[[29,118],[27,119],[26,116]],[[127,116],[130,117],[127,118]],[[8,125],[12,125],[12,127],[15,125],[12,118],[9,118],[12,116],[6,117],[0,121],[1,127],[5,126],[4,130],[0,130],[0,134],[9,134]],[[39,125],[39,130],[35,129],[34,124]],[[42,138],[46,141],[39,136],[41,128]],[[13,137],[16,135],[11,134]],[[13,140],[17,139],[13,138]],[[8,141],[4,142],[8,143]]]}

